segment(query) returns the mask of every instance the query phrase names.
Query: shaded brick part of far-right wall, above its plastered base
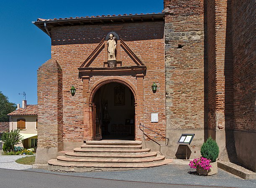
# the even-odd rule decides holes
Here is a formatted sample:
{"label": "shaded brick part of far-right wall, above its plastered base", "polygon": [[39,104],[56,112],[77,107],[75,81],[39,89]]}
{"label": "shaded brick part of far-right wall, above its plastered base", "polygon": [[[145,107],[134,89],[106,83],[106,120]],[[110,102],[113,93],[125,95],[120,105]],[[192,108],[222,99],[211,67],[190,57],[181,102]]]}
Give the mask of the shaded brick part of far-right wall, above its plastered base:
{"label": "shaded brick part of far-right wall, above its plastered base", "polygon": [[[256,131],[255,1],[232,2],[234,129]],[[242,113],[241,113],[242,112]]]}

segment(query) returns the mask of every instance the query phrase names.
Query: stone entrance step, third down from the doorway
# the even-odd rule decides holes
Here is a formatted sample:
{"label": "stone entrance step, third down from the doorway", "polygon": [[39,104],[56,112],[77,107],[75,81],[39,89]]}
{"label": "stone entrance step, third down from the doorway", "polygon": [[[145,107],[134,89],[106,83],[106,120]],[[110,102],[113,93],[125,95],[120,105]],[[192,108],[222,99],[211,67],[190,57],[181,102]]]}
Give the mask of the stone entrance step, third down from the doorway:
{"label": "stone entrance step, third down from the doorway", "polygon": [[100,150],[100,149],[94,149],[94,148],[88,148],[88,149],[81,149],[79,147],[74,148],[74,152],[86,152],[86,153],[97,153],[97,154],[125,154],[125,153],[130,153],[130,154],[136,154],[136,153],[147,153],[150,152],[149,148],[144,148],[141,150],[119,150],[119,149],[109,149],[109,150]]}

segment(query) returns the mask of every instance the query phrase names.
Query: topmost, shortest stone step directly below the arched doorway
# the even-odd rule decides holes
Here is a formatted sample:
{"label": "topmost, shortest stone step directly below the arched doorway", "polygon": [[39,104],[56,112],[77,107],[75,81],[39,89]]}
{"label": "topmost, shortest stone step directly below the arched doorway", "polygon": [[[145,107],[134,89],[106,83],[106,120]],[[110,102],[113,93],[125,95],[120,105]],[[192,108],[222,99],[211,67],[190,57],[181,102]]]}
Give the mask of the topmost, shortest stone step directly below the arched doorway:
{"label": "topmost, shortest stone step directly below the arched doorway", "polygon": [[141,141],[134,140],[92,140],[86,141],[86,145],[141,145]]}

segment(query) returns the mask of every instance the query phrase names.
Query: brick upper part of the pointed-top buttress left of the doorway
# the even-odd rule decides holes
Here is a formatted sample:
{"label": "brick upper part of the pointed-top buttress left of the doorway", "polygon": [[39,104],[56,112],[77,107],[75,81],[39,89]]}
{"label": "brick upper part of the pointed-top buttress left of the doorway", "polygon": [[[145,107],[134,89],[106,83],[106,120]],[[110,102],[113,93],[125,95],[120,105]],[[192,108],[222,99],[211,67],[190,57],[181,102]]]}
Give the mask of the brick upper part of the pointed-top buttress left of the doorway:
{"label": "brick upper part of the pointed-top buttress left of the doorway", "polygon": [[37,71],[38,147],[63,147],[62,69],[48,60]]}

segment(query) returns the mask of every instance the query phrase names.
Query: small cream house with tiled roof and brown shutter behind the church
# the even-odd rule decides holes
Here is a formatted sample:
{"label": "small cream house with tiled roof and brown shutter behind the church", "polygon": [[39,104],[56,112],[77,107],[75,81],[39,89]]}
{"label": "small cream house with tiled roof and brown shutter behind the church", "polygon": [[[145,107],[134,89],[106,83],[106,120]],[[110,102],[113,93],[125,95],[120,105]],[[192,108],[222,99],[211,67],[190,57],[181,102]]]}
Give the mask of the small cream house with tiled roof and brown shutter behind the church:
{"label": "small cream house with tiled roof and brown shutter behind the church", "polygon": [[20,130],[23,140],[20,145],[24,148],[37,148],[37,105],[27,105],[26,100],[22,101],[22,107],[8,115],[10,116],[10,130]]}

